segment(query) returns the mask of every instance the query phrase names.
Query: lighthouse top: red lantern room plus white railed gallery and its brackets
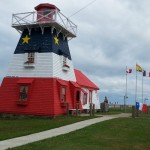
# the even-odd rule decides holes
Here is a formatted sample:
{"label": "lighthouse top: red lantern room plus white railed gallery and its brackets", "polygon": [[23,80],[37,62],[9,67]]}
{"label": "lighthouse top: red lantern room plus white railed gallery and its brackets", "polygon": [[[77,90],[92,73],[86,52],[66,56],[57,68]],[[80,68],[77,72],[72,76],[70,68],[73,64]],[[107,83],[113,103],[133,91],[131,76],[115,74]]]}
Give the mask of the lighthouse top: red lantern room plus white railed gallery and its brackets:
{"label": "lighthouse top: red lantern room plus white railed gallery and its brackets", "polygon": [[12,27],[21,34],[27,29],[29,35],[33,28],[40,28],[44,34],[44,29],[50,27],[51,33],[56,29],[57,35],[61,32],[64,39],[67,37],[70,40],[76,37],[77,26],[65,17],[55,5],[42,3],[36,6],[35,10],[34,12],[13,14]]}

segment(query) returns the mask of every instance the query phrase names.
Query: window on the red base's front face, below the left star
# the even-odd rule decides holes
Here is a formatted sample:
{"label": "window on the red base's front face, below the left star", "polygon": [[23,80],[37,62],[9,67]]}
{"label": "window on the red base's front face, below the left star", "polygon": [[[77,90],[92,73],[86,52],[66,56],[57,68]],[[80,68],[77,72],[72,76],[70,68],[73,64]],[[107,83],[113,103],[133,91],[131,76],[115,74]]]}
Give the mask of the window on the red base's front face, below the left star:
{"label": "window on the red base's front face, below the left star", "polygon": [[19,101],[28,100],[28,86],[20,86],[20,98]]}

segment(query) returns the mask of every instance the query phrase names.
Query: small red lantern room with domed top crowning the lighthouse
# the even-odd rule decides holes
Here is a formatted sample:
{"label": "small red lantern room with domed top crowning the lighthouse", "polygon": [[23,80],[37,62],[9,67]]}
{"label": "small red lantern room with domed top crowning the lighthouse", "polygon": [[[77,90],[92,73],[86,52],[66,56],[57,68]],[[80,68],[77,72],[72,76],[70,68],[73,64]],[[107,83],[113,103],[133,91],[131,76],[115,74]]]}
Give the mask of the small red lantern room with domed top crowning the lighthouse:
{"label": "small red lantern room with domed top crowning the lighthouse", "polygon": [[60,11],[55,5],[44,3],[35,7],[38,22],[49,22],[56,20],[56,11]]}

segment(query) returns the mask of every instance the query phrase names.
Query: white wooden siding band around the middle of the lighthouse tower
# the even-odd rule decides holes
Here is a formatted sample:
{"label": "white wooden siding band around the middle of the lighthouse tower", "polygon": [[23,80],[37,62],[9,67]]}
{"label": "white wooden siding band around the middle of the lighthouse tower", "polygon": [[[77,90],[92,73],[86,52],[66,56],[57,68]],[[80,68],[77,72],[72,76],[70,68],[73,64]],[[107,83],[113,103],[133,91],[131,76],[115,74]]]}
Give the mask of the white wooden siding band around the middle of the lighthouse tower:
{"label": "white wooden siding band around the middle of the lighthouse tower", "polygon": [[15,77],[53,77],[76,81],[72,61],[68,60],[69,71],[62,70],[62,56],[54,53],[36,53],[35,67],[25,68],[27,54],[14,54],[7,76]]}

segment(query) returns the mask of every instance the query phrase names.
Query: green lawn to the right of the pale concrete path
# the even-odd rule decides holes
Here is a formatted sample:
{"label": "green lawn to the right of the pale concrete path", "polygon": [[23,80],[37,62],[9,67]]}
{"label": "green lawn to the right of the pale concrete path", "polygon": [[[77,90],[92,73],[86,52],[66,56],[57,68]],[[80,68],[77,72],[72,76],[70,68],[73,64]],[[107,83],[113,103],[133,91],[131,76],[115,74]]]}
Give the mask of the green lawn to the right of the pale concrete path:
{"label": "green lawn to the right of the pale concrete path", "polygon": [[149,150],[150,118],[118,118],[13,150]]}

